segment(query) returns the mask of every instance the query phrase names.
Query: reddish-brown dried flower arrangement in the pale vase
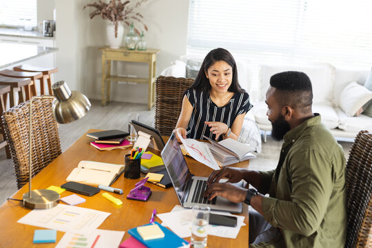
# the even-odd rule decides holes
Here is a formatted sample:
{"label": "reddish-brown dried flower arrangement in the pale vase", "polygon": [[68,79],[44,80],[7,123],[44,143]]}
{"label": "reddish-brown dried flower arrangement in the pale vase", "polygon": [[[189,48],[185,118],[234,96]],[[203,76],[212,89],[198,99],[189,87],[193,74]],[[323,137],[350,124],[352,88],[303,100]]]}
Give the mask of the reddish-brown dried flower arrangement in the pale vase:
{"label": "reddish-brown dried flower arrangement in the pale vase", "polygon": [[[96,15],[100,15],[102,19],[106,19],[112,21],[115,25],[115,37],[118,36],[118,22],[123,21],[126,25],[130,25],[131,20],[138,21],[143,25],[143,28],[147,31],[147,25],[143,22],[143,16],[139,12],[134,12],[135,8],[141,6],[142,3],[148,0],[141,0],[138,1],[134,7],[127,6],[130,1],[125,1],[121,3],[121,0],[110,0],[109,3],[104,3],[103,1],[97,1],[94,3],[89,3],[84,6],[83,10],[86,7],[94,7],[96,10],[90,13],[90,19],[95,17]],[[134,32],[138,35],[141,33],[138,29],[134,28]]]}

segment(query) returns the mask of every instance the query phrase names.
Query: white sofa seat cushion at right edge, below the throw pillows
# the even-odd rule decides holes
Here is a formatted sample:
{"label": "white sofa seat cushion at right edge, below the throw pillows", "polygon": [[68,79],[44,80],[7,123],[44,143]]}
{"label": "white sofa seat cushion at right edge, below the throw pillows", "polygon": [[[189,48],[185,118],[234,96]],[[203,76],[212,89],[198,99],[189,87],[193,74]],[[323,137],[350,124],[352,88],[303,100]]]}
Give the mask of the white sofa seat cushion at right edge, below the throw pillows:
{"label": "white sofa seat cushion at right edge, below the throw pillows", "polygon": [[372,118],[364,114],[360,114],[358,117],[350,117],[345,114],[339,107],[335,108],[335,112],[338,114],[340,125],[338,128],[346,132],[359,132],[360,130],[372,130]]}

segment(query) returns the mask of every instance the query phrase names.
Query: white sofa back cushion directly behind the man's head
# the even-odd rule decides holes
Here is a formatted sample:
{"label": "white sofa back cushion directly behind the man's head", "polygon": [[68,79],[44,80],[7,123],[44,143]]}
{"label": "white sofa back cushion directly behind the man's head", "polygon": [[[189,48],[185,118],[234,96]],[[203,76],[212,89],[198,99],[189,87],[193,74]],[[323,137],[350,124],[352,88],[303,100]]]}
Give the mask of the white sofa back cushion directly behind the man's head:
{"label": "white sofa back cushion directly behind the man's head", "polygon": [[309,76],[313,85],[313,103],[332,103],[333,69],[329,65],[291,66],[291,65],[262,65],[260,71],[260,100],[265,99],[270,78],[273,74],[286,71],[304,72]]}

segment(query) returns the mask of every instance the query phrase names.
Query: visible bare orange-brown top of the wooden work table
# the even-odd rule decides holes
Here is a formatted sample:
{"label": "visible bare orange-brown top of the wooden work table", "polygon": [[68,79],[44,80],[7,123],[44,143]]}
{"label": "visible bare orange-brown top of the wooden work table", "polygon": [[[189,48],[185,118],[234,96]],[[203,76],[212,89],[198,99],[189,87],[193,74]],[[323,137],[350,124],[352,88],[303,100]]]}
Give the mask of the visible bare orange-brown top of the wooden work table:
{"label": "visible bare orange-brown top of the wooden work table", "polygon": [[[96,132],[99,130],[89,130],[88,132]],[[116,149],[112,151],[99,151],[90,145],[91,138],[87,138],[85,134],[81,136],[73,145],[65,152],[58,156],[48,167],[45,167],[37,176],[32,179],[32,189],[45,189],[50,185],[61,186],[65,183],[65,178],[70,174],[72,169],[76,167],[81,160],[99,161],[105,163],[124,163],[124,156],[130,152],[130,149]],[[159,154],[157,151],[152,152]],[[193,158],[186,158],[187,165],[193,174],[197,176],[208,176],[211,169],[203,164],[198,163]],[[248,161],[236,164],[237,167],[247,167]],[[78,207],[87,207],[100,211],[110,212],[110,216],[102,223],[99,229],[108,229],[116,231],[125,231],[123,240],[130,237],[127,230],[139,225],[149,223],[151,214],[154,208],[158,213],[165,213],[172,210],[174,205],[179,205],[178,199],[173,187],[163,189],[146,183],[147,187],[152,189],[152,196],[147,202],[137,200],[127,200],[126,196],[139,180],[143,178],[143,174],[139,179],[127,179],[120,176],[112,187],[123,189],[124,194],[115,194],[116,198],[123,201],[123,205],[116,206],[102,196],[102,192],[94,196],[83,196],[86,201]],[[22,195],[28,192],[28,184],[24,185],[12,198],[21,199]],[[61,197],[69,196],[72,192],[63,192]],[[65,234],[63,231],[57,231],[56,243],[52,244],[33,244],[32,238],[35,229],[30,225],[17,223],[21,217],[28,214],[31,210],[22,207],[19,201],[8,200],[0,206],[0,247],[54,247],[57,242]],[[248,246],[248,207],[243,204],[242,215],[246,216],[246,226],[240,229],[236,239],[220,238],[216,236],[208,236],[208,247],[247,247]],[[157,217],[156,221],[161,222]],[[189,240],[189,238],[186,238]]]}

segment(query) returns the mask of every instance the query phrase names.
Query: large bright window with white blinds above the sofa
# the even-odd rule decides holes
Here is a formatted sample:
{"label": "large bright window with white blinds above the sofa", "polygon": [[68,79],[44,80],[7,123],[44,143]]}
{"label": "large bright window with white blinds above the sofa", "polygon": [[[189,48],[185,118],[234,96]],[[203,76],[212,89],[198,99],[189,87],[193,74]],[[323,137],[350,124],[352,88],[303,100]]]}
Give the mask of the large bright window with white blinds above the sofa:
{"label": "large bright window with white blinds above the sofa", "polygon": [[187,54],[226,48],[253,76],[263,63],[369,68],[371,8],[368,0],[190,0]]}

